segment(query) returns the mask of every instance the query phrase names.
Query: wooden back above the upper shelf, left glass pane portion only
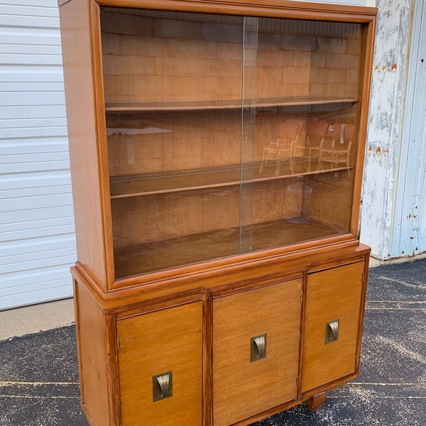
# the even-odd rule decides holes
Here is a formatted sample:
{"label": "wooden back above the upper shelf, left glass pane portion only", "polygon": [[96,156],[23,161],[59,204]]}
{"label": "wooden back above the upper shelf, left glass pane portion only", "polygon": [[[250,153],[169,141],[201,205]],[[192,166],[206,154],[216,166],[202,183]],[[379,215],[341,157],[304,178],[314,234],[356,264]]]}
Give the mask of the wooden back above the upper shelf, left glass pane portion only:
{"label": "wooden back above the upper shelf, left glass pane portion only", "polygon": [[107,104],[241,99],[240,16],[139,13],[102,13]]}

